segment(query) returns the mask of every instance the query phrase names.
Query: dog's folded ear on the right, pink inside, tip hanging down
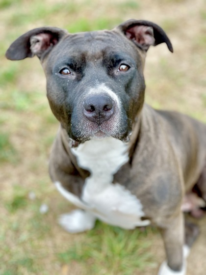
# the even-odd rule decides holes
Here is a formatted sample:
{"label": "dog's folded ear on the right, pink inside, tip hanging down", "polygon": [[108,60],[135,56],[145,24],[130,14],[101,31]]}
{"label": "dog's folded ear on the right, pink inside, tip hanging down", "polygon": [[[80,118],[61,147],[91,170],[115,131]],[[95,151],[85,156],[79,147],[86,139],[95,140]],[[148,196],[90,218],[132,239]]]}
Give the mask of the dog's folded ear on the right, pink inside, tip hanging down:
{"label": "dog's folded ear on the right, pink inside, tip hanging down", "polygon": [[117,28],[123,31],[130,40],[145,51],[147,51],[151,45],[156,46],[160,43],[166,43],[170,52],[173,53],[170,39],[164,30],[153,22],[131,19],[119,25]]}

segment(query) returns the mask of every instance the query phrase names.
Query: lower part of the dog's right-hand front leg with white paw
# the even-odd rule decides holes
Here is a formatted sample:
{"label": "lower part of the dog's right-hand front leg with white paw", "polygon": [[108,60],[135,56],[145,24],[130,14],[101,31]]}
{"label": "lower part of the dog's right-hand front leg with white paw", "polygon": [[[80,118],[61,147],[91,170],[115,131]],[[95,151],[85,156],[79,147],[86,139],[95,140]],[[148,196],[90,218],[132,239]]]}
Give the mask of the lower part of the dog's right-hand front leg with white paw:
{"label": "lower part of the dog's right-hand front leg with white paw", "polygon": [[163,262],[158,275],[186,275],[186,249],[184,247],[184,221],[180,213],[167,222],[160,232],[164,241],[167,261]]}

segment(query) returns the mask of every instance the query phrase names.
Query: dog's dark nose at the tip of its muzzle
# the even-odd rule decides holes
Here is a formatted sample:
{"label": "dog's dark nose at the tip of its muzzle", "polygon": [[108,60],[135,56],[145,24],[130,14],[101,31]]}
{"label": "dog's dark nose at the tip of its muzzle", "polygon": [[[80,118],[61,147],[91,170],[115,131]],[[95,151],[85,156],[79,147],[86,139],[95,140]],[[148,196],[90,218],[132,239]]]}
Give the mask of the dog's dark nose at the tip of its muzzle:
{"label": "dog's dark nose at the tip of its muzzle", "polygon": [[114,112],[114,101],[107,95],[90,95],[84,102],[84,115],[98,125],[108,120]]}

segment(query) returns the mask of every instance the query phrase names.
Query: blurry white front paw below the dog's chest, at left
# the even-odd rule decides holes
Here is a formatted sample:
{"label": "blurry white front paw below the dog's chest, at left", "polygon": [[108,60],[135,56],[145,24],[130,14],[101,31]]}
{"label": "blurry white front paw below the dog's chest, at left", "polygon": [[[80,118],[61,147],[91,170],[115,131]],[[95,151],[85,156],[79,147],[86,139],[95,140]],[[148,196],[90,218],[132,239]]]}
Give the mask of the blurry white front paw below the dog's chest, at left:
{"label": "blurry white front paw below the dog's chest, at left", "polygon": [[91,213],[76,209],[68,214],[62,214],[58,222],[69,233],[80,233],[92,229],[95,220]]}

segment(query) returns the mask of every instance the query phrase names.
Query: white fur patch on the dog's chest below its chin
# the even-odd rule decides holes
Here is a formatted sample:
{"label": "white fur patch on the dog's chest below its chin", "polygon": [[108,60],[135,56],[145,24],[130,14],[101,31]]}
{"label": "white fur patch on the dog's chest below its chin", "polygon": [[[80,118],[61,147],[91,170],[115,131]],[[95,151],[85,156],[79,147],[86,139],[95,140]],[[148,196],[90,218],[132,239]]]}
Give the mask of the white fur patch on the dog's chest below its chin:
{"label": "white fur patch on the dog's chest below its chin", "polygon": [[113,175],[128,162],[126,143],[115,138],[88,140],[72,149],[80,167],[90,171],[81,199],[101,220],[124,228],[147,225],[138,198],[124,186],[113,184]]}

